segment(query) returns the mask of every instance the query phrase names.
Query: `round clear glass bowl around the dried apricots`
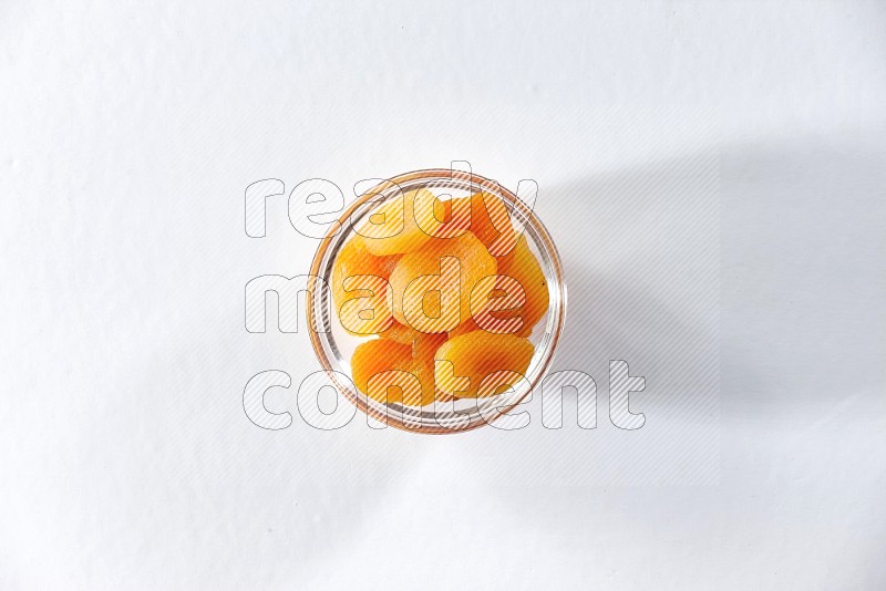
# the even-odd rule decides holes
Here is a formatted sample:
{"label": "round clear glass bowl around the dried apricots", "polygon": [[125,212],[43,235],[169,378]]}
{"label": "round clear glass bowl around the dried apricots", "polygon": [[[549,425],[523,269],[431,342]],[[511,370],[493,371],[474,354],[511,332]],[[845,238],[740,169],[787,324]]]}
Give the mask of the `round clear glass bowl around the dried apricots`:
{"label": "round clear glass bowl around the dried apricots", "polygon": [[[311,343],[321,366],[332,385],[361,412],[382,424],[413,433],[446,434],[471,431],[502,419],[540,383],[550,366],[559,343],[566,313],[566,283],[557,248],[545,226],[533,210],[515,194],[476,174],[449,168],[415,170],[384,180],[351,204],[333,224],[320,242],[311,265],[310,274],[331,284],[336,258],[353,236],[353,228],[372,215],[375,207],[409,191],[425,188],[437,197],[459,198],[481,189],[497,196],[507,207],[516,231],[523,231],[529,250],[538,259],[548,286],[548,311],[536,324],[529,340],[535,353],[525,373],[525,381],[509,390],[485,398],[456,398],[423,407],[400,403],[381,403],[359,392],[351,382],[351,354],[358,344],[369,338],[359,338],[344,331],[332,308],[329,290],[313,290],[307,298],[308,319],[315,325],[309,331]],[[322,284],[322,283],[320,283]],[[336,373],[337,372],[337,373]],[[341,377],[344,375],[348,380]]]}

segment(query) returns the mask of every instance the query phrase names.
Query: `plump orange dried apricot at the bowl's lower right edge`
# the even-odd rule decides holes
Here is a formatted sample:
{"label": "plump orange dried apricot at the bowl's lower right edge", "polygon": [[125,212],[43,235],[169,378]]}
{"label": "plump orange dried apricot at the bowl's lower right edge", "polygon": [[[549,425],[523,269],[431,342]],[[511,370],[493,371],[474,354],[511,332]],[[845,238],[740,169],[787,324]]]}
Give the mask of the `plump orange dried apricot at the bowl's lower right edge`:
{"label": "plump orange dried apricot at the bowl's lower right edge", "polygon": [[[529,367],[535,348],[513,334],[493,334],[483,330],[468,332],[447,341],[437,349],[434,377],[436,387],[460,398],[475,397],[483,380],[496,372],[515,372],[523,376]],[[493,395],[517,380],[485,388],[482,395]]]}

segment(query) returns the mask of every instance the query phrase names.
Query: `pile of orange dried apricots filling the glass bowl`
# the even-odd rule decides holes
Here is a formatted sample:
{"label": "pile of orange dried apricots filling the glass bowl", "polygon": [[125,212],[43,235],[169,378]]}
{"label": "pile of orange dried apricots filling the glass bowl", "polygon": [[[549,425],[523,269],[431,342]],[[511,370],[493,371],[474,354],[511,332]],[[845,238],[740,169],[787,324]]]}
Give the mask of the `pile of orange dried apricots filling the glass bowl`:
{"label": "pile of orange dried apricots filling the glass bowl", "polygon": [[548,308],[538,260],[488,193],[383,203],[339,251],[330,287],[341,325],[378,336],[351,357],[354,385],[408,406],[513,386]]}

